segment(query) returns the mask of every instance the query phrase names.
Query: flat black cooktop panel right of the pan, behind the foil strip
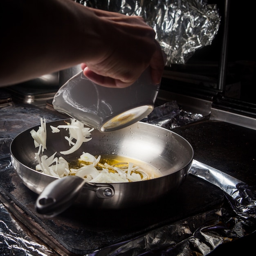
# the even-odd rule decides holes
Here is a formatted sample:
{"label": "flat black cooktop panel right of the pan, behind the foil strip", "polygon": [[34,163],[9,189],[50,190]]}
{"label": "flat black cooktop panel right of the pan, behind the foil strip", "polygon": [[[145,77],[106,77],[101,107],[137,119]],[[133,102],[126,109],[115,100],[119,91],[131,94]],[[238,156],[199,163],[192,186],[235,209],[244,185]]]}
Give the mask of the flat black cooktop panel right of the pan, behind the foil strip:
{"label": "flat black cooktop panel right of the pan, behind the foil strip", "polygon": [[195,160],[256,185],[256,130],[209,120],[173,131],[189,141]]}

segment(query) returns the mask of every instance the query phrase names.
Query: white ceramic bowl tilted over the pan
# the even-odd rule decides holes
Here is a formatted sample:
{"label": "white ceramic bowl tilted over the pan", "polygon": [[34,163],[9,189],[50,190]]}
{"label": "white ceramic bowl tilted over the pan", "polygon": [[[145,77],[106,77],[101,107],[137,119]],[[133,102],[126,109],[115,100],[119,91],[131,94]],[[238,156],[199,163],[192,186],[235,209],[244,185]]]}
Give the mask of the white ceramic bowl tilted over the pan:
{"label": "white ceramic bowl tilted over the pan", "polygon": [[146,117],[154,108],[159,85],[153,84],[150,69],[126,88],[97,85],[79,72],[56,93],[55,110],[101,132],[130,126]]}

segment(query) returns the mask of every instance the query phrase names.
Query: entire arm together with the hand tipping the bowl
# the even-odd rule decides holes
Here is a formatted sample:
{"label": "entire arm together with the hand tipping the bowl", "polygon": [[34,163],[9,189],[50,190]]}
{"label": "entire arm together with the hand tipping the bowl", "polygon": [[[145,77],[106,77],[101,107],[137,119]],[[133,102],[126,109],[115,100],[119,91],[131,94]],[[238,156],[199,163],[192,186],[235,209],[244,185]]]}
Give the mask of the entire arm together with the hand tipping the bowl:
{"label": "entire arm together with the hand tipping the bowl", "polygon": [[104,86],[129,86],[148,66],[153,81],[161,79],[161,48],[140,17],[72,0],[1,0],[0,7],[0,85],[79,63],[89,79]]}

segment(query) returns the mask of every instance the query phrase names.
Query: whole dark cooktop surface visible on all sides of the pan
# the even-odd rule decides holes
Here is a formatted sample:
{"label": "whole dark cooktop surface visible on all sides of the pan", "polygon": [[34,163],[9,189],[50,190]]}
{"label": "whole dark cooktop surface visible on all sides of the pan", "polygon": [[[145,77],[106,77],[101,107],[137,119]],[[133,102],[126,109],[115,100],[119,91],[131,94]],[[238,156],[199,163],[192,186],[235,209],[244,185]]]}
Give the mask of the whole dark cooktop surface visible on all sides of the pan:
{"label": "whole dark cooktop surface visible on all sides of the pan", "polygon": [[[0,109],[1,157],[9,152],[11,139],[19,132],[62,115],[31,105]],[[256,184],[255,130],[218,121],[202,121],[173,129],[195,150],[195,159],[214,166],[250,185]],[[3,146],[4,145],[4,146]],[[8,209],[50,247],[62,255],[94,250],[135,238],[147,231],[181,220],[195,213],[219,207],[224,193],[189,175],[175,194],[140,208],[97,211],[75,206],[55,218],[43,218],[34,210],[37,195],[23,185],[12,168],[0,171],[0,196]]]}

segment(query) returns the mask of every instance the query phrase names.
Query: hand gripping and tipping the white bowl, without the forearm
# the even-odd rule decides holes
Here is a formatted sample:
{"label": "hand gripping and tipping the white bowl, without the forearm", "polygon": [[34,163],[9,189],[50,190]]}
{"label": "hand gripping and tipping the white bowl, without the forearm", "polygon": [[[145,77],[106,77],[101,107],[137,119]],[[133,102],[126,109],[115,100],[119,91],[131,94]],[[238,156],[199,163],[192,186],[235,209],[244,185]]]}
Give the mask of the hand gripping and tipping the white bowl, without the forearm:
{"label": "hand gripping and tipping the white bowl, without the forearm", "polygon": [[150,66],[152,81],[160,83],[165,60],[155,31],[138,16],[90,10],[102,28],[103,45],[81,64],[83,74],[99,85],[124,88]]}

